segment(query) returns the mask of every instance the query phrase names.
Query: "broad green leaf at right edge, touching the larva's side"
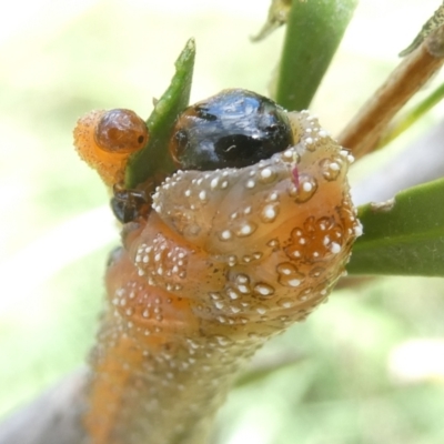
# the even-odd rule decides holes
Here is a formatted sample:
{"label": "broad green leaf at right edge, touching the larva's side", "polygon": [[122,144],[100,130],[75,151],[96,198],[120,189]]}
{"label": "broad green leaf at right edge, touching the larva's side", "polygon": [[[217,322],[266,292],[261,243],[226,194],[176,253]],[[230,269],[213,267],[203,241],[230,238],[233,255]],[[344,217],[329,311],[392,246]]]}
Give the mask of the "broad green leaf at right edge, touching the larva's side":
{"label": "broad green leaf at right edge, touching the larva's side", "polygon": [[359,209],[364,234],[352,274],[444,276],[444,179],[402,191],[392,205]]}

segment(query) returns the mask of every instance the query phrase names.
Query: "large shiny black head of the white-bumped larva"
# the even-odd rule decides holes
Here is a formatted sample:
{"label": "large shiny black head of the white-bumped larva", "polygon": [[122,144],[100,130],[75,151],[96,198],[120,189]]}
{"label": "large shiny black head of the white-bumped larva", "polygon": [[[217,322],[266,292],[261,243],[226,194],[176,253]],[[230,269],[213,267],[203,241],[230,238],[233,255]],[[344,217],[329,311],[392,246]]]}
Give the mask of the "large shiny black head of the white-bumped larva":
{"label": "large shiny black head of the white-bumped larva", "polygon": [[292,131],[284,110],[245,90],[225,90],[178,119],[170,152],[184,170],[242,168],[285,150]]}

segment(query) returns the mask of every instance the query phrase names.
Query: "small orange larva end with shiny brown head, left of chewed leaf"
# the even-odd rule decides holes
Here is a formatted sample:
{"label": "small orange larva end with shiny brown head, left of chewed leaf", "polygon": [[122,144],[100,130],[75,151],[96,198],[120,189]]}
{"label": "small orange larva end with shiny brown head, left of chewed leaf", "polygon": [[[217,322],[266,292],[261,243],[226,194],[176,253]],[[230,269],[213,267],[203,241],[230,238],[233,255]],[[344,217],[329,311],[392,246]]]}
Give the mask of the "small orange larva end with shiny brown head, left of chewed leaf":
{"label": "small orange larva end with shiny brown head, left of chewed leaf", "polygon": [[145,122],[124,109],[91,111],[74,129],[77,151],[108,185],[123,180],[129,155],[145,147],[148,138]]}

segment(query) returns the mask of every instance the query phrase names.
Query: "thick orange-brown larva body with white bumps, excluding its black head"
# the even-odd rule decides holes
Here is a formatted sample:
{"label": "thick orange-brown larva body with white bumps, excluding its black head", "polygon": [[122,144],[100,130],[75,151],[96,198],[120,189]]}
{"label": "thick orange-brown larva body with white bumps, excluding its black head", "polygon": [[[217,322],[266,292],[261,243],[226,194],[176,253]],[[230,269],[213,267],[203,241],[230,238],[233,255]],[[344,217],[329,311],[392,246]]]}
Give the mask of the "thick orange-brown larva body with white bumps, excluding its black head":
{"label": "thick orange-brown larva body with white bumps, excluding its black head", "polygon": [[294,145],[242,169],[178,171],[128,224],[91,365],[93,444],[204,444],[244,362],[325,300],[362,231],[352,160],[307,112]]}

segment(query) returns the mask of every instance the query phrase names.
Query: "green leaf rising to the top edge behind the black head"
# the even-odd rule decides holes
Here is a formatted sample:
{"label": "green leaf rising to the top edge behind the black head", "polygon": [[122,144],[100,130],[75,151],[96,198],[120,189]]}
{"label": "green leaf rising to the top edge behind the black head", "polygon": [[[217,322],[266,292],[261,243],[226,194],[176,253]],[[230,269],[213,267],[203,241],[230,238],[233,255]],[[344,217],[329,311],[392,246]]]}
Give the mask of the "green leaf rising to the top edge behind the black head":
{"label": "green leaf rising to the top edge behind the black head", "polygon": [[286,23],[275,100],[309,108],[352,18],[357,0],[293,0]]}

